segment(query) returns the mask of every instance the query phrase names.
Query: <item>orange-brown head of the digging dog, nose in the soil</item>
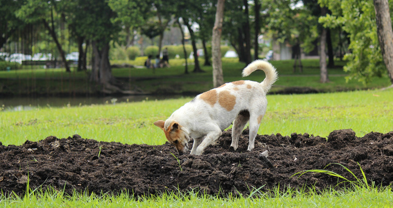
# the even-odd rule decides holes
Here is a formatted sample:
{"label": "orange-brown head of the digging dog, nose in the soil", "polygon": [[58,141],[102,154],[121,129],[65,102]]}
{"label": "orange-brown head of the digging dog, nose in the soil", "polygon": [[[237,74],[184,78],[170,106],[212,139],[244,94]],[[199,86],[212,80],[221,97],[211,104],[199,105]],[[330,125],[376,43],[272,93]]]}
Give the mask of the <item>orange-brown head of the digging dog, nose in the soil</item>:
{"label": "orange-brown head of the digging dog, nose in the soil", "polygon": [[165,121],[163,120],[154,122],[154,125],[160,127],[164,131],[166,139],[170,144],[175,146],[179,155],[183,155],[187,152],[189,136],[181,125],[177,122],[171,122],[165,126]]}

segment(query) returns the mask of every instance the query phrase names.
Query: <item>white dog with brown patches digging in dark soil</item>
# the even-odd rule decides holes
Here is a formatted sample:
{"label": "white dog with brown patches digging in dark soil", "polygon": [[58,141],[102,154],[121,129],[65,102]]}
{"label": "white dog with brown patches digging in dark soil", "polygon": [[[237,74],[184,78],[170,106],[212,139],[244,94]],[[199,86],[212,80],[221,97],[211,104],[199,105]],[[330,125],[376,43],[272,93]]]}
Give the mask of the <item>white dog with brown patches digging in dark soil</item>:
{"label": "white dog with brown patches digging in dark soil", "polygon": [[188,150],[188,142],[193,138],[191,155],[202,155],[205,148],[213,144],[222,131],[233,122],[232,143],[238,147],[239,136],[249,122],[248,151],[254,148],[255,136],[260,122],[265,115],[268,101],[266,93],[278,79],[276,68],[264,60],[255,60],[248,64],[243,77],[256,70],[263,70],[266,78],[263,82],[235,81],[212,89],[184,104],[166,120],[158,120],[154,125],[160,127],[178,154]]}

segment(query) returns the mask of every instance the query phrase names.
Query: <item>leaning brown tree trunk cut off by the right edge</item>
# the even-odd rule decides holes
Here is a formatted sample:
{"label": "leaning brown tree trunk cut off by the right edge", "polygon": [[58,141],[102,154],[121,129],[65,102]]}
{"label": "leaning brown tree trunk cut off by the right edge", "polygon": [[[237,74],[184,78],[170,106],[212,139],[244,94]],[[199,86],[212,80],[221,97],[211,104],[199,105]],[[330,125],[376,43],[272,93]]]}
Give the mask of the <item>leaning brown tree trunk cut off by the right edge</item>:
{"label": "leaning brown tree trunk cut off by the right edge", "polygon": [[374,0],[377,33],[383,61],[393,86],[393,31],[387,0]]}

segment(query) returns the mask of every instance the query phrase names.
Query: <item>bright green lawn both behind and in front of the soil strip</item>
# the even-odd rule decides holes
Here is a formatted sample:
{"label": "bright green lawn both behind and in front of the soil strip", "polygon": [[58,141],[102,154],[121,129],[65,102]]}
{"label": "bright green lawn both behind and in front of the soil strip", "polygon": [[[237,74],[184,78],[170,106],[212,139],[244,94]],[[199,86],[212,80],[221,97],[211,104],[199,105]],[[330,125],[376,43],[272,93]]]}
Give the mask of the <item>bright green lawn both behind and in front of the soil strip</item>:
{"label": "bright green lawn both behind and in front of the soil strip", "polygon": [[[352,128],[357,136],[370,131],[393,130],[393,89],[387,91],[355,91],[307,95],[269,95],[268,110],[259,134],[292,132],[327,136],[331,131]],[[167,118],[175,109],[191,98],[163,101],[144,101],[107,105],[36,108],[28,111],[0,111],[0,135],[3,145],[21,145],[26,140],[38,141],[46,136],[67,137],[80,134],[97,141],[126,144],[160,145],[166,142],[162,130],[153,125],[157,119]],[[386,206],[393,203],[391,188],[357,186],[347,191],[326,190],[316,194],[309,190],[289,190],[274,195],[252,192],[253,198],[217,198],[177,193],[159,197],[147,196],[139,200],[128,195],[103,196],[62,192],[30,192],[22,198],[0,195],[0,204],[20,206],[77,206],[77,207],[259,207],[259,206]]]}

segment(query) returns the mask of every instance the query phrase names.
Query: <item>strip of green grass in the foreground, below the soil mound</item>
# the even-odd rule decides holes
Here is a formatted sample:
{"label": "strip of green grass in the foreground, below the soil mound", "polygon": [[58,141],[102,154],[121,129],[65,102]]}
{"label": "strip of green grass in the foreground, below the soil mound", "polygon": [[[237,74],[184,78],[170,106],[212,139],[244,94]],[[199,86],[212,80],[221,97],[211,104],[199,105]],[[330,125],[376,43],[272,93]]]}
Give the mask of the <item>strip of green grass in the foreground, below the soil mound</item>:
{"label": "strip of green grass in the foreground, below the soil mound", "polygon": [[393,203],[390,187],[358,186],[355,189],[341,191],[328,189],[321,194],[316,194],[312,189],[288,189],[285,192],[274,190],[273,194],[256,191],[251,196],[218,198],[190,191],[186,194],[163,193],[160,196],[136,199],[126,193],[118,196],[85,193],[65,196],[61,191],[38,190],[22,198],[2,195],[0,205],[6,207],[390,207]]}

